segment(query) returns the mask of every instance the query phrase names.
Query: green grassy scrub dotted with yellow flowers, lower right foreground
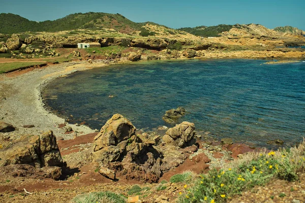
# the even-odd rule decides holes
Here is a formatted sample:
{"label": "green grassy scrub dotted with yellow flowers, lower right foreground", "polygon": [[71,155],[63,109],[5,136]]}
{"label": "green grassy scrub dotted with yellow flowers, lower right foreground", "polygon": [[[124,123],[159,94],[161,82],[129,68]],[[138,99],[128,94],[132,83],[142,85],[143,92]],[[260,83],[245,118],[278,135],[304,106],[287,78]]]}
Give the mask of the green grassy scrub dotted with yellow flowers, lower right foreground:
{"label": "green grassy scrub dotted with yellow flowers, lower right foreground", "polygon": [[201,175],[193,185],[185,185],[186,191],[181,193],[178,202],[226,202],[232,196],[265,185],[272,179],[298,180],[298,174],[304,171],[304,141],[298,147],[276,152],[249,153],[222,170]]}

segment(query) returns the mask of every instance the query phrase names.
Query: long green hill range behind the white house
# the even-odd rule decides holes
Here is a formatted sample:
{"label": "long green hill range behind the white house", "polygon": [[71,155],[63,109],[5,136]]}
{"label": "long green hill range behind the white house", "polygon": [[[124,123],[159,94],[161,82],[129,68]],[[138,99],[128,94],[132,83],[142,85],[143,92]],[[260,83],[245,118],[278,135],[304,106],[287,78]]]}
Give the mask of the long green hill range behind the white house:
{"label": "long green hill range behind the white house", "polygon": [[[141,30],[141,26],[153,22],[136,23],[120,14],[75,13],[57,20],[43,22],[30,21],[11,13],[0,14],[0,33],[19,33],[25,31],[63,31],[73,29],[112,28],[122,33]],[[158,24],[156,24],[158,25]]]}

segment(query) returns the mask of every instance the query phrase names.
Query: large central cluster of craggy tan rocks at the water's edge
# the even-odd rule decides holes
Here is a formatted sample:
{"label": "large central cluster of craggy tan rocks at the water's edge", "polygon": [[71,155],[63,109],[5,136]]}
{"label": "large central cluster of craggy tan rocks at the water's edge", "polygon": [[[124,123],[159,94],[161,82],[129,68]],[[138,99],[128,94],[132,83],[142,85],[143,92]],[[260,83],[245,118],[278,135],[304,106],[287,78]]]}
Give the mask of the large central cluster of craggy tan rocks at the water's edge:
{"label": "large central cluster of craggy tan rocks at the water's edge", "polygon": [[188,122],[170,128],[168,134],[174,139],[167,134],[173,142],[165,144],[154,133],[135,134],[133,124],[115,114],[95,137],[91,158],[100,167],[100,174],[109,179],[120,174],[128,180],[158,182],[163,172],[187,158],[179,149],[191,145],[194,129],[194,124]]}

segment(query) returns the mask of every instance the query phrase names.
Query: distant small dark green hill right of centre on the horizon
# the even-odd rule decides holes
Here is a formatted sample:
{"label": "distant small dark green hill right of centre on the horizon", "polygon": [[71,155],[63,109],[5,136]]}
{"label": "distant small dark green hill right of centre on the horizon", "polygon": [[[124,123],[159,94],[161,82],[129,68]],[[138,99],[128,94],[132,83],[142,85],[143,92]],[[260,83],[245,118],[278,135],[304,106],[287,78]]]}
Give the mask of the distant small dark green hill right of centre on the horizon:
{"label": "distant small dark green hill right of centre on the horizon", "polygon": [[229,31],[233,25],[220,24],[216,26],[182,27],[178,30],[189,32],[200,37],[217,37],[223,31]]}

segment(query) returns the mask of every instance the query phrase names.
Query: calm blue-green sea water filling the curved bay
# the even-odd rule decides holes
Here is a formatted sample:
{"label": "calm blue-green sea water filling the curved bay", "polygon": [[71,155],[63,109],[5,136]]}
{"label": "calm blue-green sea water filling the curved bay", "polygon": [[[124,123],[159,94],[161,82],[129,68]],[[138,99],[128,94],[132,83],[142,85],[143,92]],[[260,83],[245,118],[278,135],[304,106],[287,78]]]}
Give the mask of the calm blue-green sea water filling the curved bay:
{"label": "calm blue-green sea water filling the curved bay", "polygon": [[[115,113],[138,128],[167,125],[165,111],[184,107],[181,121],[218,138],[287,146],[305,136],[305,62],[185,60],[113,65],[56,79],[46,104],[72,123],[100,129]],[[109,95],[114,95],[110,98]]]}

